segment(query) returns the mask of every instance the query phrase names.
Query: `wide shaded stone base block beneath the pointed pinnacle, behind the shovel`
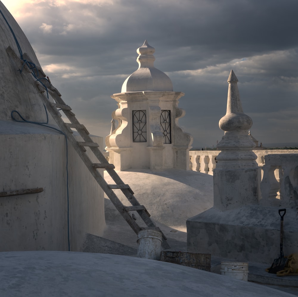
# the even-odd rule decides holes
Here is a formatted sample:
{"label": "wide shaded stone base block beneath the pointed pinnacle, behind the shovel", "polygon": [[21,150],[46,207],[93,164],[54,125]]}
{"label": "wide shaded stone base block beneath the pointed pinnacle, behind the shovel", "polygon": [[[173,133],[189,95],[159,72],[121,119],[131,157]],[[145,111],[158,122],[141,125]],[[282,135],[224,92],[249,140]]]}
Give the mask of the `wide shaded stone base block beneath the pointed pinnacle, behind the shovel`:
{"label": "wide shaded stone base block beneath the pointed pinnacle, behind the shovel", "polygon": [[[187,250],[210,253],[230,261],[267,263],[280,254],[280,216],[277,207],[243,206],[220,211],[211,208],[186,222]],[[298,217],[287,209],[283,251],[298,250]]]}

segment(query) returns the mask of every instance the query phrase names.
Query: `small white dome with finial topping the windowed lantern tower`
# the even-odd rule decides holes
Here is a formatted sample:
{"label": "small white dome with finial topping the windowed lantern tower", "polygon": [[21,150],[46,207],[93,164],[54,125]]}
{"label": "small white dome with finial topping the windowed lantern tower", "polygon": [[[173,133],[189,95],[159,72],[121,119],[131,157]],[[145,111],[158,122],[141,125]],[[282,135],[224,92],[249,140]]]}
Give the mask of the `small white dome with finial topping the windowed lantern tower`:
{"label": "small white dome with finial topping the windowed lantern tower", "polygon": [[155,49],[145,40],[136,51],[139,54],[136,61],[139,69],[125,79],[121,93],[141,91],[173,91],[170,78],[153,65]]}

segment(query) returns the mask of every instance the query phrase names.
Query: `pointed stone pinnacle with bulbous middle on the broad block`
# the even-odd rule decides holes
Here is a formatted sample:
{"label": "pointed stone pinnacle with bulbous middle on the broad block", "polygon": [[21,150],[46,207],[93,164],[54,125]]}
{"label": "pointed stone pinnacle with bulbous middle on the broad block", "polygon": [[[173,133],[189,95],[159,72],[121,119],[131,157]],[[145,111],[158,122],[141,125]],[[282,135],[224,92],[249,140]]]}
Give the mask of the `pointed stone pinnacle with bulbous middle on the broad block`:
{"label": "pointed stone pinnacle with bulbous middle on the broad block", "polygon": [[213,171],[214,208],[218,210],[258,204],[259,169],[252,151],[255,143],[248,133],[252,119],[243,113],[237,82],[232,70],[226,115],[219,121],[225,134],[217,145],[221,153]]}

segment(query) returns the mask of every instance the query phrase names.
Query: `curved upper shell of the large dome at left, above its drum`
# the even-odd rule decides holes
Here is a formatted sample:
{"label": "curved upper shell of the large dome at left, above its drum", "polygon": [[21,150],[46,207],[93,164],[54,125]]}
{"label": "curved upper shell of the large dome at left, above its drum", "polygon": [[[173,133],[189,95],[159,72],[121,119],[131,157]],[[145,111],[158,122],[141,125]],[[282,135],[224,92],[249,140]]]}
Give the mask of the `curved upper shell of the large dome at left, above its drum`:
{"label": "curved upper shell of the large dome at left, above its drum", "polygon": [[[41,100],[43,95],[26,78],[29,74],[26,74],[25,70],[20,73],[19,66],[7,54],[6,49],[10,46],[20,59],[21,53],[26,53],[27,57],[22,58],[23,62],[30,61],[39,68],[40,64],[24,32],[1,1],[0,10],[0,120],[11,120],[11,112],[17,110],[27,121],[46,122],[46,112]],[[41,71],[38,78],[44,78]],[[17,113],[13,115],[17,120],[21,120]],[[49,124],[54,124],[52,116],[48,116]]]}

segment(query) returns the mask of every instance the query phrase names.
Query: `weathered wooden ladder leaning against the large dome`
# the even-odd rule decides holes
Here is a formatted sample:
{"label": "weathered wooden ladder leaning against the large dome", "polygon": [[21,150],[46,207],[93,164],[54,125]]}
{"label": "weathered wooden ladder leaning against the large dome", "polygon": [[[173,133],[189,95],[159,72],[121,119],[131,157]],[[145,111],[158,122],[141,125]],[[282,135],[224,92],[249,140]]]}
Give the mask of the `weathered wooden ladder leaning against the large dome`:
{"label": "weathered wooden ladder leaning against the large dome", "polygon": [[[26,64],[24,64],[24,62],[17,56],[15,51],[10,46],[6,49],[6,51],[9,54],[9,56],[14,60],[16,65],[19,67],[19,69],[23,68],[23,71],[26,71],[27,74],[30,73],[28,77],[32,81],[32,84],[35,85],[37,89],[41,92],[41,99],[44,105],[46,106],[46,109],[52,115],[57,125],[59,126],[60,130],[65,135],[65,137],[67,137],[67,140],[69,141],[69,143],[72,144],[77,154],[81,157],[86,167],[93,175],[94,179],[104,190],[108,198],[114,204],[116,209],[120,212],[120,214],[125,219],[125,221],[127,221],[129,226],[131,226],[134,232],[137,234],[140,230],[144,229],[144,227],[140,227],[136,223],[136,221],[130,214],[131,211],[137,211],[139,216],[147,225],[147,227],[156,229],[162,233],[159,227],[156,227],[155,224],[151,221],[150,214],[146,210],[146,207],[144,205],[140,205],[139,202],[136,200],[136,198],[134,197],[134,192],[131,190],[130,186],[125,184],[120,179],[119,175],[114,170],[115,166],[113,164],[110,164],[105,159],[104,155],[98,149],[99,145],[91,139],[86,127],[80,124],[80,122],[75,117],[75,114],[71,111],[72,110],[71,107],[69,105],[66,105],[63,99],[61,98],[61,94],[58,92],[58,90],[55,87],[53,87],[48,82],[48,80],[42,80],[43,84],[41,84],[39,81],[36,81],[32,75],[32,71],[30,70],[30,68]],[[26,60],[30,61],[30,58],[26,53],[23,54],[23,57]],[[37,67],[37,70],[39,73],[45,76],[41,68]],[[46,91],[54,99],[55,103],[49,101],[49,99],[45,94]],[[63,119],[61,118],[61,113],[59,112],[60,110],[64,112],[64,114],[66,115],[66,117],[69,119],[71,123],[65,123],[63,121]],[[74,131],[72,129],[76,129],[84,141],[77,141],[73,136]],[[91,149],[91,151],[93,152],[93,154],[95,155],[99,163],[93,163],[90,160],[90,158],[86,154],[85,147],[89,147]],[[107,171],[107,173],[114,180],[115,182],[114,185],[107,184],[103,176],[97,170],[99,168],[103,168]],[[120,189],[132,206],[123,205],[122,202],[117,197],[117,195],[114,193],[113,191],[114,189]],[[167,240],[167,237],[165,237],[165,235],[162,233],[162,247],[164,249],[170,248],[166,240]]]}

